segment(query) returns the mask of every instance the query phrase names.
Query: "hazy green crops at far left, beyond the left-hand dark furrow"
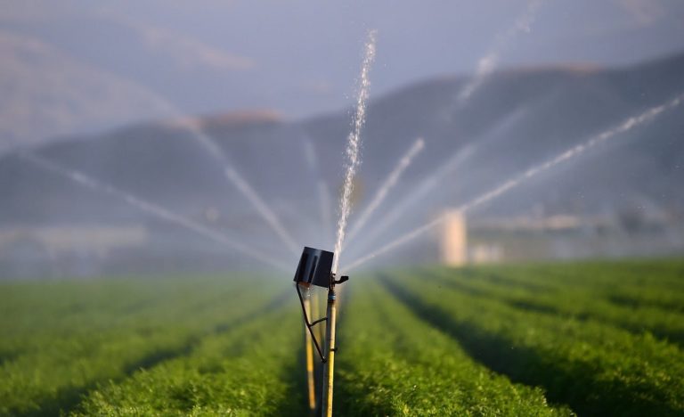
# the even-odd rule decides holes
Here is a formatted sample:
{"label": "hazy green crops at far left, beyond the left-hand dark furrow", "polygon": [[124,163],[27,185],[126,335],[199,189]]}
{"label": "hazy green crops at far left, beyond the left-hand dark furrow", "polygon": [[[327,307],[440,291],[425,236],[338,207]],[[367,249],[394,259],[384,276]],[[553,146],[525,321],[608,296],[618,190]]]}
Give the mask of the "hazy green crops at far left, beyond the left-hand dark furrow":
{"label": "hazy green crops at far left, beyond the left-hand dark furrow", "polygon": [[208,335],[232,331],[285,299],[282,286],[262,281],[3,284],[0,414],[69,410],[99,382],[187,355]]}

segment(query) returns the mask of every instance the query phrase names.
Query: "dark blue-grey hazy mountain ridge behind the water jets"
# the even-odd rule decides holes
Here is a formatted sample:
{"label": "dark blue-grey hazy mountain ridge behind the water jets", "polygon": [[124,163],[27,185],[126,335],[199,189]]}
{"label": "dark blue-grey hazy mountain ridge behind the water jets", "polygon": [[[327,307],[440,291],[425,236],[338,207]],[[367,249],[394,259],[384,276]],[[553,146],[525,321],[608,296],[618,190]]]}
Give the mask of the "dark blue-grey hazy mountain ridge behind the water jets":
{"label": "dark blue-grey hazy mountain ridge behind the water jets", "polygon": [[[612,70],[505,70],[489,78],[464,106],[454,104],[468,78],[432,78],[376,96],[363,132],[357,211],[419,136],[425,139],[425,151],[372,221],[415,190],[455,152],[468,149],[468,157],[380,241],[423,223],[444,208],[468,201],[624,119],[672,100],[684,92],[681,74],[684,54]],[[653,123],[620,135],[494,200],[471,217],[615,217],[637,211],[644,217],[680,223],[684,217],[681,115],[681,108],[665,112]],[[283,120],[269,112],[242,112],[208,116],[199,119],[199,124],[281,217],[297,243],[330,245],[331,237],[321,225],[317,180],[324,179],[330,199],[337,200],[349,110],[300,121]],[[313,164],[306,158],[306,143],[313,144]],[[226,180],[221,163],[178,120],[63,138],[31,151],[265,249],[274,257],[293,258]],[[170,245],[223,253],[201,236],[55,176],[21,159],[16,151],[0,158],[0,195],[4,196],[1,227],[145,225],[151,241],[156,242],[151,248],[162,250]]]}

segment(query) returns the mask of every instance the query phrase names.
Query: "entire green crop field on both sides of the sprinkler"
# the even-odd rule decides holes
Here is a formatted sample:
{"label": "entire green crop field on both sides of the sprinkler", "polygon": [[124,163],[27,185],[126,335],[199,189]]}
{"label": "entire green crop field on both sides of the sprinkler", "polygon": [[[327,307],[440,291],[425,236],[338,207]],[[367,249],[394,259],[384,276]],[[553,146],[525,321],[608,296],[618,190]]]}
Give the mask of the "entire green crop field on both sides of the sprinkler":
{"label": "entire green crop field on both sides of the sprinkler", "polygon": [[[306,415],[290,276],[0,283],[0,415]],[[338,415],[684,415],[684,261],[421,266],[340,294]]]}

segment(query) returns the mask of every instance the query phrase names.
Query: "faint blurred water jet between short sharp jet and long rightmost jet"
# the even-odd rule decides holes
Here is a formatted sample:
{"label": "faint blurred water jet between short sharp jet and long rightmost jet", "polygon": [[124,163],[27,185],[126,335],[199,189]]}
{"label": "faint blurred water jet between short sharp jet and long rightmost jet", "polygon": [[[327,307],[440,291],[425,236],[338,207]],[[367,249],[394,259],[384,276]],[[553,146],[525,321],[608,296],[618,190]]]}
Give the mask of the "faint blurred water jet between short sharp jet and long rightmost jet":
{"label": "faint blurred water jet between short sharp jet and long rightmost jet", "polygon": [[363,241],[359,244],[359,247],[366,246],[368,243],[371,243],[390,226],[395,225],[395,223],[399,221],[399,219],[407,210],[423,201],[429,192],[434,190],[437,185],[442,183],[442,180],[445,176],[448,176],[453,172],[454,169],[458,168],[464,160],[468,159],[468,157],[473,154],[474,151],[475,146],[468,145],[459,151],[454,152],[452,157],[447,159],[446,162],[444,162],[444,164],[440,166],[432,175],[425,178],[414,192],[409,193],[403,200],[395,204],[395,206],[389,210],[389,212],[387,212],[387,215],[382,217],[382,220],[380,220],[368,233],[365,233],[363,235]]}

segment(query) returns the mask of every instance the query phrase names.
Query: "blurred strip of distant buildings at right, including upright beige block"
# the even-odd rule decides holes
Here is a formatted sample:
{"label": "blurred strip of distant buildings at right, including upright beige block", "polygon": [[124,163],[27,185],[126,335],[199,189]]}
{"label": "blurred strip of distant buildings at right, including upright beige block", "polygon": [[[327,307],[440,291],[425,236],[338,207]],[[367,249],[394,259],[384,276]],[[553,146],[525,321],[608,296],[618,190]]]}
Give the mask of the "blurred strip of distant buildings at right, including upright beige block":
{"label": "blurred strip of distant buildings at right, including upright beige block", "polygon": [[447,266],[544,259],[620,258],[679,255],[684,225],[670,218],[639,222],[619,216],[488,217],[466,221],[456,211],[444,215],[438,237]]}

